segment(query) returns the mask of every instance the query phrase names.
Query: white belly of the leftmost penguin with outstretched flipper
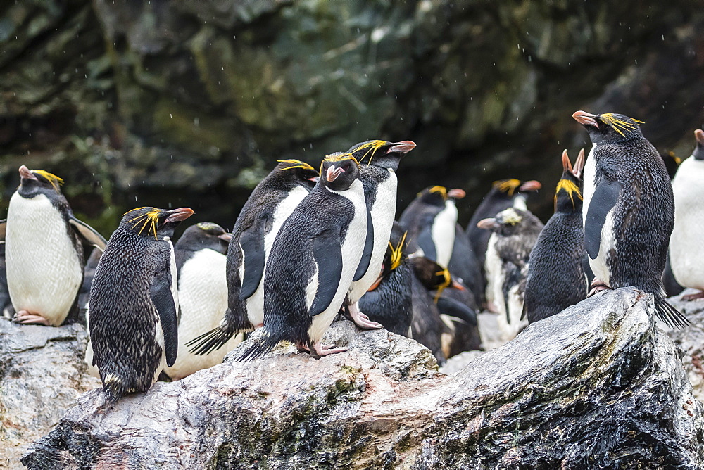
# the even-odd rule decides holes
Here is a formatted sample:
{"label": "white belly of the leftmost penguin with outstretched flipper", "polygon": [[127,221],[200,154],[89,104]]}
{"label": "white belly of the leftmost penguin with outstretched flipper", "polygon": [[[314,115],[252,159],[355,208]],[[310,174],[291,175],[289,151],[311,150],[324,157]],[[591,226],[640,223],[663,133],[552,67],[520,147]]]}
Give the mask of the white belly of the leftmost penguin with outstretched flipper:
{"label": "white belly of the leftmost penguin with outstretched flipper", "polygon": [[14,193],[6,228],[7,284],[15,311],[42,315],[52,326],[68,315],[83,268],[67,224],[43,194]]}

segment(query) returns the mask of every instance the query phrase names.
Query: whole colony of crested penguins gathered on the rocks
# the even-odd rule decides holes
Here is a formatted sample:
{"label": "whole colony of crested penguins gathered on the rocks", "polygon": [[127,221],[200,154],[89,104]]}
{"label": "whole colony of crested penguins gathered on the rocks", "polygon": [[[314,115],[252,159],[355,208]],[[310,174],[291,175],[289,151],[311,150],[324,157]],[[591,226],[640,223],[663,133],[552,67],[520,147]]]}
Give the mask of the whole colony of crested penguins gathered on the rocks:
{"label": "whole colony of crested penguins gathered on the rocks", "polygon": [[704,297],[704,268],[689,256],[704,220],[704,132],[671,183],[641,121],[573,118],[593,146],[574,166],[562,154],[544,227],[527,206],[541,184],[518,179],[495,182],[466,230],[456,206],[465,191],[444,186],[422,190],[396,222],[396,171],[413,141],[361,142],[319,171],[279,160],[232,233],[200,222],[177,243],[193,210],[130,210],[105,241],[74,217],[61,178],[23,165],[0,221],[0,309],[21,324],[86,323],[86,360],[108,403],[222,362],[254,329],[239,360],[282,341],[313,357],[342,352],[321,341],[338,315],[415,338],[439,363],[482,348],[485,307],[509,341],[526,323],[623,286],[653,293],[658,317],[685,326],[662,274],[669,248],[674,279],[699,291],[685,298]]}

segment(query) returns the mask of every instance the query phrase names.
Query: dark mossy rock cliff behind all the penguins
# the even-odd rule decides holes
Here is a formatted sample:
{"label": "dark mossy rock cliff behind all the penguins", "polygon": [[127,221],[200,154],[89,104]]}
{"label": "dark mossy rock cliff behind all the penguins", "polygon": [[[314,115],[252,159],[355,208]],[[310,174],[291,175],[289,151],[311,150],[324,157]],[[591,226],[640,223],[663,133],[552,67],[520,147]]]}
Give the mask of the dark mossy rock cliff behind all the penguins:
{"label": "dark mossy rock cliff behind all the penguins", "polygon": [[6,3],[0,192],[20,164],[54,171],[106,235],[125,209],[189,201],[231,227],[275,160],[374,138],[418,144],[402,204],[462,187],[465,222],[494,179],[554,184],[588,141],[574,110],[640,118],[679,156],[704,120],[689,0]]}

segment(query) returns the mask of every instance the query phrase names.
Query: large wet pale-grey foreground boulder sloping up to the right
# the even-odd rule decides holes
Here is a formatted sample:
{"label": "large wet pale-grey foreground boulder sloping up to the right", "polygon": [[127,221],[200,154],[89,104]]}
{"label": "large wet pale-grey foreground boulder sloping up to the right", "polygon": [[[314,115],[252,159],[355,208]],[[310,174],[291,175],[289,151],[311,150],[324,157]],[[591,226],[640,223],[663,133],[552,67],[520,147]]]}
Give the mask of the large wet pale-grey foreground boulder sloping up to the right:
{"label": "large wet pale-grey foreground boulder sloping up to the right", "polygon": [[[698,468],[703,405],[653,298],[608,291],[451,376],[385,331],[334,324],[349,352],[291,346],[103,407],[94,390],[23,457],[143,468]],[[231,353],[237,357],[245,342]]]}

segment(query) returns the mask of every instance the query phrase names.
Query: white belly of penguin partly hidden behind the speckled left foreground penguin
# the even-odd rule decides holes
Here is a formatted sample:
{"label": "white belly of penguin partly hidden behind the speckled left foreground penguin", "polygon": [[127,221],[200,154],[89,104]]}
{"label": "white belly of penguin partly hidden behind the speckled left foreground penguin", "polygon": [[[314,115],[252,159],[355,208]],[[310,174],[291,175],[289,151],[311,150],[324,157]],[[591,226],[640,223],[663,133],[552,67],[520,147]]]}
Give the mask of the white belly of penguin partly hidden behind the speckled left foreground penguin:
{"label": "white belly of penguin partly hidden behind the speckled left foreground penguin", "polygon": [[178,355],[166,373],[179,380],[200,369],[220,364],[227,352],[242,341],[233,336],[225,345],[207,355],[189,352],[186,343],[216,328],[227,310],[227,257],[210,248],[203,248],[184,262],[178,279],[181,319],[178,324]]}

